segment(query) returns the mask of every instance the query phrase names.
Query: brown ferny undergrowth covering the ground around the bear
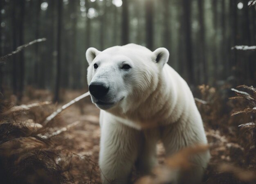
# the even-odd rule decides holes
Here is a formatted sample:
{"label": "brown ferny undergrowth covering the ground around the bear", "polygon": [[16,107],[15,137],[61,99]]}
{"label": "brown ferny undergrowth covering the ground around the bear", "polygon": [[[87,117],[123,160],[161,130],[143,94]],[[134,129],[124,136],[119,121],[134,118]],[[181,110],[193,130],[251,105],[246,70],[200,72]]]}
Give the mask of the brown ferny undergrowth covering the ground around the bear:
{"label": "brown ferny undergrowth covering the ground around the bear", "polygon": [[[16,98],[1,96],[0,183],[100,183],[99,110],[84,99],[43,127],[45,118],[62,104],[45,102],[51,99],[49,92],[40,90],[35,96],[32,91],[27,90],[21,103],[30,106],[17,107]],[[199,86],[195,96],[211,151],[202,183],[255,183],[255,91],[247,86],[233,91],[229,85]],[[67,103],[82,93],[65,91],[62,98]],[[164,159],[162,145],[157,147],[159,166],[150,176],[136,176],[135,182],[170,183],[175,169],[189,167],[189,154],[207,149],[189,148]]]}

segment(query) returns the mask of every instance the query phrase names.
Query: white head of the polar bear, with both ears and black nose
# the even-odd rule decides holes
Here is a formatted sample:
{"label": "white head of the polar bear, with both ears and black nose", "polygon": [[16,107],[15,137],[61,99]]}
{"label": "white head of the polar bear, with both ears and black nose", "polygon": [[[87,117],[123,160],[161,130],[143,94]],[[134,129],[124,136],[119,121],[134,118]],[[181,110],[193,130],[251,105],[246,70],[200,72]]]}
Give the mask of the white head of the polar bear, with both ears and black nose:
{"label": "white head of the polar bear, with both ears and black nose", "polygon": [[103,50],[88,48],[87,80],[92,102],[108,112],[126,113],[153,93],[169,58],[166,48],[154,52],[128,44]]}

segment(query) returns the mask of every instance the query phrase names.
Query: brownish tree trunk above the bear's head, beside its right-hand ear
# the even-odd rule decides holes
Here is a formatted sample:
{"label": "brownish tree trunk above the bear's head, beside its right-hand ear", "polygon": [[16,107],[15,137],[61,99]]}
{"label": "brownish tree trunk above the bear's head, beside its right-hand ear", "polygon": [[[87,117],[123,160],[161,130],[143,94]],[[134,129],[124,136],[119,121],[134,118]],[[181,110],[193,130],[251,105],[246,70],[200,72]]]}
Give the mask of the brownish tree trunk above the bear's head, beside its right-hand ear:
{"label": "brownish tree trunk above the bear's head, beside its right-hand ear", "polygon": [[153,7],[154,0],[146,0],[146,46],[153,50],[153,14],[154,14],[154,7]]}

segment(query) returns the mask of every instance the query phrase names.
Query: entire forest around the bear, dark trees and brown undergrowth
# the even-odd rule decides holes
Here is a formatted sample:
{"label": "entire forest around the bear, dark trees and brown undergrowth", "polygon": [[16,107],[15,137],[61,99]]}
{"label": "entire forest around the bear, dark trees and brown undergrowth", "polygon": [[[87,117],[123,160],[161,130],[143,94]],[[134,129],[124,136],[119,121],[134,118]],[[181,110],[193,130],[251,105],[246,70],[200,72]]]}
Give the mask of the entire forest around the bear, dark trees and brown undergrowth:
{"label": "entire forest around the bear, dark trees and brown undergrowth", "polygon": [[168,158],[158,142],[131,182],[175,183],[209,149],[202,183],[256,183],[256,0],[0,0],[0,183],[101,183],[85,53],[129,43],[169,51],[208,140]]}

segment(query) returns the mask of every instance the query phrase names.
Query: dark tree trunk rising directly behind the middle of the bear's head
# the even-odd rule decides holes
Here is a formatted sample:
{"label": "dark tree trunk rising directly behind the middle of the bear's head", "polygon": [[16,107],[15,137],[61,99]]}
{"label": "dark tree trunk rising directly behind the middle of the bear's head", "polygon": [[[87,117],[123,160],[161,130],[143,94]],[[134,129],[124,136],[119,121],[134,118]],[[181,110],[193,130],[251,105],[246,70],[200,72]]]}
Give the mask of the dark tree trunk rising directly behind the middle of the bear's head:
{"label": "dark tree trunk rising directly behind the middle of the bear's head", "polygon": [[128,14],[128,0],[123,0],[122,11],[122,37],[121,44],[129,43],[129,14]]}

